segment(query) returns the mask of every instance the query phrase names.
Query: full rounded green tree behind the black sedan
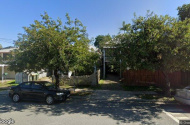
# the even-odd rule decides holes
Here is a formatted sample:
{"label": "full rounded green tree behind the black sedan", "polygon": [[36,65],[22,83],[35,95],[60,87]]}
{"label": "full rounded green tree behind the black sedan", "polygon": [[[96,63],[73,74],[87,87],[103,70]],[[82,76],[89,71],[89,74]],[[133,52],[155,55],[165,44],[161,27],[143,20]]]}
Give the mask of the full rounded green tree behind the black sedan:
{"label": "full rounded green tree behind the black sedan", "polygon": [[[68,14],[65,25],[59,18],[54,21],[47,13],[41,17],[41,21],[35,20],[34,24],[24,27],[25,33],[18,36],[15,46],[19,49],[9,62],[10,70],[53,70],[58,88],[59,72],[81,71],[90,65],[89,39],[83,24],[78,19],[72,21]],[[91,62],[95,63],[96,59]]]}

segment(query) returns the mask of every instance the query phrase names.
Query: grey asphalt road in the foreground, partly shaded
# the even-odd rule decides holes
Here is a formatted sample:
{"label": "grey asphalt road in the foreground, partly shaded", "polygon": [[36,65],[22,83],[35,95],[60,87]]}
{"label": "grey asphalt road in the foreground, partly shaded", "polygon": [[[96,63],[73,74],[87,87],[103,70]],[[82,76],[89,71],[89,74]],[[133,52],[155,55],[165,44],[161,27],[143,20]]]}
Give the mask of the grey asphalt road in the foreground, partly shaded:
{"label": "grey asphalt road in the foreground, partly shaded", "polygon": [[1,94],[0,120],[12,118],[14,125],[178,125],[162,112],[159,104],[130,95],[124,101],[95,96],[71,97],[65,103],[46,105],[31,101],[13,103],[8,95]]}

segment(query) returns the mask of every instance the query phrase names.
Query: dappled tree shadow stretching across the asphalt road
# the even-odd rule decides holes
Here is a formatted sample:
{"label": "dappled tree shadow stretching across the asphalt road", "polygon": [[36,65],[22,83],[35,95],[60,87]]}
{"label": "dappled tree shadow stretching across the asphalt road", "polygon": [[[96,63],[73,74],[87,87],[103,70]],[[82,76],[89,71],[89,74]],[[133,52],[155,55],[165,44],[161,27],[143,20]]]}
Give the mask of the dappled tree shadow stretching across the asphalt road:
{"label": "dappled tree shadow stretching across the asphalt road", "polygon": [[160,119],[159,114],[162,112],[158,104],[130,99],[118,102],[119,100],[95,100],[81,97],[71,98],[65,103],[56,103],[55,105],[30,101],[13,103],[7,95],[0,95],[0,100],[0,114],[13,111],[24,112],[26,110],[36,115],[46,114],[48,116],[80,113],[89,116],[108,116],[122,123],[140,122],[153,125],[156,123],[152,119]]}

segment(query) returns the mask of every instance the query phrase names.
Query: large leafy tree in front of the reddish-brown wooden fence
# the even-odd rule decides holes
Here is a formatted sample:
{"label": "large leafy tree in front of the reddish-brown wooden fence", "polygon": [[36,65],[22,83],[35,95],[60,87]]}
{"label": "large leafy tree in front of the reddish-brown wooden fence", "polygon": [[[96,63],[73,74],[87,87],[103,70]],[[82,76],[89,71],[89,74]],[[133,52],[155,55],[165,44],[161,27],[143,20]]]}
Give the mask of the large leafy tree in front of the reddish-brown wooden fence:
{"label": "large leafy tree in front of the reddish-brown wooden fence", "polygon": [[165,76],[167,95],[170,81],[167,72],[190,69],[190,20],[177,21],[153,13],[135,17],[128,34],[120,37],[118,46],[123,67],[139,70],[161,70]]}

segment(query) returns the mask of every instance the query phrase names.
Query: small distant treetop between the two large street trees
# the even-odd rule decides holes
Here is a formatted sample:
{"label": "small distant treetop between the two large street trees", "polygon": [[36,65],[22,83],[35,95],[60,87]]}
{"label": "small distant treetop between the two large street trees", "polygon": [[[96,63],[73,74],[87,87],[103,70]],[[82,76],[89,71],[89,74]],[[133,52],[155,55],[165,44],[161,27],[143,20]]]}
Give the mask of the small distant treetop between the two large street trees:
{"label": "small distant treetop between the two large street trees", "polygon": [[111,38],[111,36],[109,34],[105,35],[105,36],[104,35],[98,35],[95,38],[94,46],[96,46],[99,49],[102,49],[103,46],[105,45],[105,43],[109,42],[111,40],[112,40],[112,38]]}

